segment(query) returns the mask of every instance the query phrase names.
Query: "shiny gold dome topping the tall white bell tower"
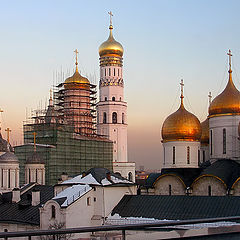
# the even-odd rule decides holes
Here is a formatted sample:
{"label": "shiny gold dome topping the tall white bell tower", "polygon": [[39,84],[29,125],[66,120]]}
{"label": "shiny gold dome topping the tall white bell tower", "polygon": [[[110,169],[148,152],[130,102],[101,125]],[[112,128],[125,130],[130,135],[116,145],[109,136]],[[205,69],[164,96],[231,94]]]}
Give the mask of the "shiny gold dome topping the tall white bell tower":
{"label": "shiny gold dome topping the tall white bell tower", "polygon": [[107,39],[107,41],[103,42],[100,47],[99,47],[99,56],[103,57],[106,55],[118,55],[120,57],[123,56],[123,46],[121,45],[121,43],[117,42],[112,34],[112,29],[113,26],[110,25],[109,26],[109,37]]}

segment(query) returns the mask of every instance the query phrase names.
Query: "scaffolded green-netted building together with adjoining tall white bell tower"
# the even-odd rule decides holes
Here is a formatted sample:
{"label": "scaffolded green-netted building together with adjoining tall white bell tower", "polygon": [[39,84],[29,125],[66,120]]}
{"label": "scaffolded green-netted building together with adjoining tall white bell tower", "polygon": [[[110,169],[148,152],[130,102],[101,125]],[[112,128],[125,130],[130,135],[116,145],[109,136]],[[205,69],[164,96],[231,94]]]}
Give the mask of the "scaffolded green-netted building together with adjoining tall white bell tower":
{"label": "scaffolded green-netted building together with adjoining tall white bell tower", "polygon": [[73,75],[55,86],[47,109],[37,110],[23,126],[24,145],[15,147],[21,184],[37,179],[36,169],[26,169],[31,166],[30,153],[41,156],[37,158],[37,169],[45,170],[41,183],[55,184],[61,175],[74,176],[93,167],[135,180],[135,163],[127,158],[123,47],[113,37],[109,14],[109,37],[99,47],[99,101],[96,85],[80,74],[75,50]]}

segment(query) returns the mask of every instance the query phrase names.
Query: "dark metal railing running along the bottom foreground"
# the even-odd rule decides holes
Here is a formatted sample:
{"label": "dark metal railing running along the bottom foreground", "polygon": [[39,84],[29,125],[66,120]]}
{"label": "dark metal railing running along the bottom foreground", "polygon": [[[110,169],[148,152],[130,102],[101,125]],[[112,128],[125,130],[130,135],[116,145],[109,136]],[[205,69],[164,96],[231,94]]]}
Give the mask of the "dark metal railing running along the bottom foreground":
{"label": "dark metal railing running along the bottom foreground", "polygon": [[[10,238],[20,238],[27,237],[29,240],[34,236],[52,236],[52,239],[58,239],[57,236],[66,235],[66,234],[75,234],[75,233],[96,233],[96,232],[109,232],[109,231],[121,231],[121,239],[126,240],[126,231],[128,230],[136,230],[136,231],[157,231],[159,229],[172,229],[173,227],[180,225],[193,225],[193,224],[201,224],[201,223],[216,223],[216,222],[227,222],[227,221],[240,221],[240,216],[235,217],[222,217],[222,218],[207,218],[207,219],[194,219],[194,220],[178,220],[178,221],[166,221],[166,222],[155,222],[155,223],[145,223],[145,224],[127,224],[127,225],[104,225],[97,227],[81,227],[81,228],[68,228],[68,229],[51,229],[51,230],[34,230],[34,231],[21,231],[21,232],[0,232],[0,239],[10,239]],[[233,228],[229,231],[218,231],[212,232],[208,234],[202,234],[199,236],[182,236],[182,237],[174,237],[167,239],[198,239],[202,237],[209,236],[226,236],[225,239],[228,239],[228,235],[240,235],[240,227]],[[164,238],[157,238],[164,239]],[[204,238],[207,239],[207,238]],[[239,237],[240,239],[240,237]]]}

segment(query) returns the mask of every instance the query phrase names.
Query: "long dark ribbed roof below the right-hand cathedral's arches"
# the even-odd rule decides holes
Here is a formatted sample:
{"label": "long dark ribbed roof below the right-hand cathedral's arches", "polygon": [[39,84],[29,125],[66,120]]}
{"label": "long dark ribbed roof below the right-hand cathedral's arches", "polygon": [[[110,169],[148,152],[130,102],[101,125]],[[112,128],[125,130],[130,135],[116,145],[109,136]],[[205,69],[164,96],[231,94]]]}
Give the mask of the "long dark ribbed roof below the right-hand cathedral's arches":
{"label": "long dark ribbed roof below the right-hand cathedral's arches", "polygon": [[240,197],[125,195],[112,214],[159,220],[240,216]]}

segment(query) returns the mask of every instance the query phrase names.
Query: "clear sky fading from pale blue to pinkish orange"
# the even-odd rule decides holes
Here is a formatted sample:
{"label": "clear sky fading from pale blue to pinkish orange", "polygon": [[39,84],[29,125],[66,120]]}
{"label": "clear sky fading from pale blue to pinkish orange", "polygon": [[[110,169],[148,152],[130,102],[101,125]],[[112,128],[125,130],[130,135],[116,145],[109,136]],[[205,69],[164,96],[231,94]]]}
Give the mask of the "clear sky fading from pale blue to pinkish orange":
{"label": "clear sky fading from pale blue to pinkish orange", "polygon": [[[128,102],[128,159],[137,169],[162,163],[161,127],[180,104],[200,121],[208,93],[216,97],[228,78],[240,89],[240,1],[236,0],[0,0],[0,108],[2,135],[23,143],[22,125],[31,110],[44,107],[56,76],[71,75],[74,50],[79,69],[99,80],[98,47],[113,34],[124,47]],[[94,80],[95,79],[95,80]]]}

